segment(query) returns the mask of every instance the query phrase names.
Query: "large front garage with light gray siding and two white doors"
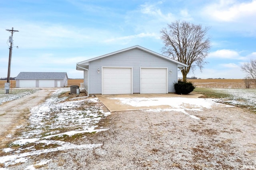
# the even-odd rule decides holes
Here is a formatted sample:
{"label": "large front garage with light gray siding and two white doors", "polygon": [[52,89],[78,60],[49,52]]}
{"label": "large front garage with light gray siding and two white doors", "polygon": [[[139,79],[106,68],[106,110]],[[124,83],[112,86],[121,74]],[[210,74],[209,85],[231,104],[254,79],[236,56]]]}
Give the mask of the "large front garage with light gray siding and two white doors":
{"label": "large front garage with light gray siding and two white doors", "polygon": [[178,67],[169,57],[138,45],[77,63],[88,94],[175,92]]}

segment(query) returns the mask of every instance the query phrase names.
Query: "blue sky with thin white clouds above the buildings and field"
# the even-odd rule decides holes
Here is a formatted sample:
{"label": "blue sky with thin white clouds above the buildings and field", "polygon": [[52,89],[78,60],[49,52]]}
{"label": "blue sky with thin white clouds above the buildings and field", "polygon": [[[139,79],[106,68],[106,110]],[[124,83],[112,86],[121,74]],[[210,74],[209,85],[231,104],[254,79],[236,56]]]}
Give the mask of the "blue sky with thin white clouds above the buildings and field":
{"label": "blue sky with thin white clouds above the buildings and field", "polygon": [[[0,77],[67,72],[76,63],[140,45],[162,54],[160,30],[175,20],[210,27],[212,46],[198,78],[244,78],[240,66],[256,59],[256,0],[14,0],[0,1]],[[181,76],[181,74],[179,74]]]}

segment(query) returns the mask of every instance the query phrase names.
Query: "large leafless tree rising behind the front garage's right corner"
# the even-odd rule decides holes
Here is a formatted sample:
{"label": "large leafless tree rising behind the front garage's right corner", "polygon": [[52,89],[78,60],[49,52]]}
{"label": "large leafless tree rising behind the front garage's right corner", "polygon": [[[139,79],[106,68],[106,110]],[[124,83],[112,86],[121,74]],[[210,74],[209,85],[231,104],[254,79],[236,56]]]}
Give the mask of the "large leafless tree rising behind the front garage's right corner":
{"label": "large leafless tree rising behind the front garage's right corner", "polygon": [[210,50],[210,37],[206,35],[208,30],[209,27],[203,29],[201,25],[174,21],[160,31],[164,41],[163,53],[188,65],[181,70],[184,82],[190,69],[194,71],[198,66],[202,72],[203,65],[206,64],[204,59]]}

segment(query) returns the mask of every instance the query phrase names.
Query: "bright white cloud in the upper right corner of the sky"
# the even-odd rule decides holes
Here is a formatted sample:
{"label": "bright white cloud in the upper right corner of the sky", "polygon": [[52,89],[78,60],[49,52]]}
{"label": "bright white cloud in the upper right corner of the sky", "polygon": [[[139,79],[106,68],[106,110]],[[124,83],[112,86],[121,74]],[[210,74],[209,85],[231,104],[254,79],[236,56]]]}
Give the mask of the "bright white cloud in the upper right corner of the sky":
{"label": "bright white cloud in the upper right corner of the sky", "polygon": [[223,36],[236,33],[236,36],[256,37],[256,0],[209,2],[200,10],[200,20],[204,18],[213,29],[224,33]]}

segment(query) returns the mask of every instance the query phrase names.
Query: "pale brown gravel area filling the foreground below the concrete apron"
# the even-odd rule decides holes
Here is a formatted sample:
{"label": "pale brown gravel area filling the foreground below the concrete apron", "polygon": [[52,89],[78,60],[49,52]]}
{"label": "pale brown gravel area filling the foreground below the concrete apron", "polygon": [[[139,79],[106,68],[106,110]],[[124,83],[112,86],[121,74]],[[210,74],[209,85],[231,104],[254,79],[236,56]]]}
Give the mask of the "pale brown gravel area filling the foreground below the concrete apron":
{"label": "pale brown gravel area filling the foreground below the concrete apron", "polygon": [[88,133],[72,141],[75,145],[99,144],[98,147],[31,155],[26,162],[8,169],[256,167],[255,113],[219,106],[187,109],[186,113],[184,109],[113,112],[98,123],[98,129],[108,128],[107,131]]}

